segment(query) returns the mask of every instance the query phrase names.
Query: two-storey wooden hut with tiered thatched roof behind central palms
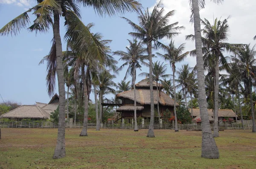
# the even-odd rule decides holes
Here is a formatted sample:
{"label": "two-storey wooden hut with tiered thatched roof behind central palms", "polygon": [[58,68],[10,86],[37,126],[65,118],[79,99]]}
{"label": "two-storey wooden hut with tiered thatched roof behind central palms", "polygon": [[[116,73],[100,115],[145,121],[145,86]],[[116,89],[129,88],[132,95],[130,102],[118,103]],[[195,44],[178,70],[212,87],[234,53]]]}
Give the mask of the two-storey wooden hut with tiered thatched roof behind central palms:
{"label": "two-storey wooden hut with tiered thatched roof behind central palms", "polygon": [[[138,82],[136,85],[136,108],[137,117],[150,118],[150,89],[148,79],[144,79]],[[170,98],[161,89],[163,85],[159,84],[159,110],[160,115],[163,117],[163,113],[168,109],[173,114],[174,100]],[[154,93],[154,105],[157,110],[157,84],[153,82],[153,93]],[[116,109],[117,112],[122,113],[122,118],[133,119],[134,118],[134,91],[128,90],[122,93],[118,93],[116,98],[122,99],[123,105]],[[179,104],[176,103],[176,106]]]}

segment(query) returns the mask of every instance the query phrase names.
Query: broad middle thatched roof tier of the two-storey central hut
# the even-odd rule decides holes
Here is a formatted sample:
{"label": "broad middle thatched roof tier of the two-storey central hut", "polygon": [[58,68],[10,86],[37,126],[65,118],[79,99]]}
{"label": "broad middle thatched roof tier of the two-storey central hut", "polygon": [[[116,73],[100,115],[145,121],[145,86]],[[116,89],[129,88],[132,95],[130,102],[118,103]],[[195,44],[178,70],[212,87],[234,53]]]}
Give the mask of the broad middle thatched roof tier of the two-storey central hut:
{"label": "broad middle thatched roof tier of the two-storey central hut", "polygon": [[[157,104],[157,90],[153,90],[154,104]],[[128,90],[116,95],[117,98],[126,98],[134,101],[134,91]],[[144,105],[150,104],[150,90],[149,89],[136,89],[137,102]],[[163,106],[174,106],[174,100],[170,98],[166,93],[160,91],[159,104]],[[176,106],[179,104],[176,103]]]}

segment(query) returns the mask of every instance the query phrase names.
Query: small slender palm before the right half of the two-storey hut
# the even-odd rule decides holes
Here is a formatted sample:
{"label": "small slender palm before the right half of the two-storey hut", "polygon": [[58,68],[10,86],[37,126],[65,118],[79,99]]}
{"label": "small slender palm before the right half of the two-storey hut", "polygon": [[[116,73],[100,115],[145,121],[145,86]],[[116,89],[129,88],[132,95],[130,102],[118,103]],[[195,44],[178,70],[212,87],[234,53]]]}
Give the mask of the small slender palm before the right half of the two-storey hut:
{"label": "small slender palm before the right half of the two-storey hut", "polygon": [[[167,78],[170,76],[169,74],[165,74],[167,71],[167,68],[166,68],[167,64],[165,64],[165,65],[163,65],[163,64],[164,64],[163,62],[160,64],[160,61],[159,61],[159,62],[154,62],[153,66],[152,66],[153,67],[153,73],[152,73],[153,80],[157,82],[157,113],[158,113],[159,124],[161,124],[161,118],[160,118],[160,111],[159,111],[160,86],[158,84],[159,84],[159,82],[162,81],[161,78]],[[149,73],[140,73],[140,76],[148,77]]]}

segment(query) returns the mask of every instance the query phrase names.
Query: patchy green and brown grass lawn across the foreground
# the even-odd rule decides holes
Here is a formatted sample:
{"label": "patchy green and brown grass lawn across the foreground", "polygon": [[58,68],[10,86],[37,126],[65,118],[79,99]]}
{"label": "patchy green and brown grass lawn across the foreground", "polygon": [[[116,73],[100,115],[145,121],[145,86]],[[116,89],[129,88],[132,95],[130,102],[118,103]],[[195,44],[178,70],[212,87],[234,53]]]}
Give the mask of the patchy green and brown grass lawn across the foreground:
{"label": "patchy green and brown grass lawn across the foreground", "polygon": [[201,131],[66,130],[66,157],[53,160],[57,129],[2,128],[0,169],[255,169],[256,133],[225,130],[215,138],[220,159],[201,158]]}

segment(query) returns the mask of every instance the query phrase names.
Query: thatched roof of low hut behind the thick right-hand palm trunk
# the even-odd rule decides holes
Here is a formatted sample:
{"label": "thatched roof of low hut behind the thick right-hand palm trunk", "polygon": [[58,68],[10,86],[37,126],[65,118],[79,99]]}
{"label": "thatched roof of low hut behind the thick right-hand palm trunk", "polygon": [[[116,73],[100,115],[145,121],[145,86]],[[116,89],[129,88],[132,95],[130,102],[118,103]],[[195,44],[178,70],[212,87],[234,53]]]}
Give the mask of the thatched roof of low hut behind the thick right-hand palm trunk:
{"label": "thatched roof of low hut behind the thick right-hand palm trunk", "polygon": [[[189,109],[191,114],[191,109]],[[208,109],[209,116],[213,117],[212,109]],[[200,109],[193,109],[193,116],[200,115]],[[218,117],[236,117],[236,113],[230,109],[219,109],[218,110]]]}

